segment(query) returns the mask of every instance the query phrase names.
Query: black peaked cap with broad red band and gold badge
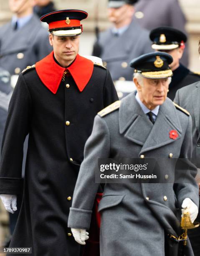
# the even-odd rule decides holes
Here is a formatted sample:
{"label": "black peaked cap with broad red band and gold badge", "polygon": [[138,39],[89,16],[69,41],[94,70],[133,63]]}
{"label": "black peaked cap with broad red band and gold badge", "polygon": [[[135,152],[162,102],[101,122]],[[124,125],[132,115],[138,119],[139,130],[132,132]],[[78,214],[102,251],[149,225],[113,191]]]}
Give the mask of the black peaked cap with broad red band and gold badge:
{"label": "black peaked cap with broad red band and gold badge", "polygon": [[43,15],[40,20],[48,23],[55,36],[78,36],[82,33],[81,20],[87,18],[83,10],[58,10]]}

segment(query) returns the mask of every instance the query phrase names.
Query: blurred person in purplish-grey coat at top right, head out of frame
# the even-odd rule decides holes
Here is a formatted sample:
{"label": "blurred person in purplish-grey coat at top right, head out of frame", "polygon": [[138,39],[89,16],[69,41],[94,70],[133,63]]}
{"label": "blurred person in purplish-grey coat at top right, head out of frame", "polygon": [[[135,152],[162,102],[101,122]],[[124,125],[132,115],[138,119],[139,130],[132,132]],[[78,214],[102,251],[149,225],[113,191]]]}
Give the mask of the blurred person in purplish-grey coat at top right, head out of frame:
{"label": "blurred person in purplish-grey coat at top right, head out of frame", "polygon": [[[155,12],[155,10],[159,10]],[[153,17],[153,18],[152,18]],[[180,7],[178,0],[139,0],[135,5],[134,20],[137,20],[142,28],[152,30],[160,26],[177,28],[186,33],[186,18]],[[185,51],[181,63],[188,66],[188,47],[185,45]]]}

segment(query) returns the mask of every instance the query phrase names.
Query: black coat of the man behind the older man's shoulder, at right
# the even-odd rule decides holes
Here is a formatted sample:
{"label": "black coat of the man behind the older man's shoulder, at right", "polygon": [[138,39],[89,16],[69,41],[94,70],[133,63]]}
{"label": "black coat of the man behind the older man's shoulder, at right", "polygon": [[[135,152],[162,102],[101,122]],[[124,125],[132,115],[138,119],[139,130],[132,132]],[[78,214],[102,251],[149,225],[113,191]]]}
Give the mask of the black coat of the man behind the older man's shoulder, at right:
{"label": "black coat of the man behind the older man's shoulder, at right", "polygon": [[191,72],[185,66],[180,64],[180,66],[173,71],[172,82],[169,85],[167,97],[170,98],[170,100],[174,100],[178,89],[198,81],[200,81],[199,74]]}

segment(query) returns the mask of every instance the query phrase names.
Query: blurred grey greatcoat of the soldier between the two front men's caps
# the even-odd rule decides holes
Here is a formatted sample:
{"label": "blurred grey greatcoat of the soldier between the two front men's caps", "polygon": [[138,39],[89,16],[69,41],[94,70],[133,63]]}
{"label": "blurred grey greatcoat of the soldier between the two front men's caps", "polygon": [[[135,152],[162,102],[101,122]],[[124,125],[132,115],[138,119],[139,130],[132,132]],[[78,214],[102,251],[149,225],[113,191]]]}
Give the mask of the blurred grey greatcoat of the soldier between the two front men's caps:
{"label": "blurred grey greatcoat of the soldier between the two front men's caps", "polygon": [[104,61],[103,64],[109,69],[114,81],[132,81],[133,69],[129,67],[130,61],[153,51],[149,32],[141,28],[137,21],[132,21],[127,30],[119,36],[115,36],[111,28],[100,33],[98,43],[101,46],[99,57]]}

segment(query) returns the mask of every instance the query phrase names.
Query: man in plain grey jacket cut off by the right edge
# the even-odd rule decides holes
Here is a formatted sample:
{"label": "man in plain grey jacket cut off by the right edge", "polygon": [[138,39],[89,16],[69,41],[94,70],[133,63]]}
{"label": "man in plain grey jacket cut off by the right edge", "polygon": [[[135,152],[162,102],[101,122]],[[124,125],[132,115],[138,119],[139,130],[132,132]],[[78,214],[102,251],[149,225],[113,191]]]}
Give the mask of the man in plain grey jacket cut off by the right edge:
{"label": "man in plain grey jacket cut off by the right edge", "polygon": [[[199,53],[200,53],[200,42],[199,42]],[[198,174],[196,180],[200,187],[200,82],[187,85],[179,89],[176,93],[174,102],[179,104],[181,107],[187,109],[192,117],[192,141],[193,151],[192,160],[198,168]],[[197,221],[200,221],[200,213],[197,216]],[[188,230],[190,241],[195,256],[200,253],[200,227],[194,230]]]}

